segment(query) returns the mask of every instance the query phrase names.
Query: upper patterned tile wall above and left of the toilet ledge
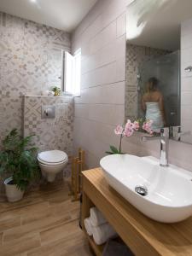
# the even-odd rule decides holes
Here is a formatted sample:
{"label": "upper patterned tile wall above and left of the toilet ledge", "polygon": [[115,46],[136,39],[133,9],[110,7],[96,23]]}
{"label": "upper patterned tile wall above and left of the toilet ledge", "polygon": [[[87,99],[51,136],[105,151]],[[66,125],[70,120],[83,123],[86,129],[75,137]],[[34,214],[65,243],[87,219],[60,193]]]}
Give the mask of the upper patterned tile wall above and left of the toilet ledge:
{"label": "upper patterned tile wall above and left of the toilet ledge", "polygon": [[61,49],[70,48],[68,33],[0,13],[0,142],[21,130],[22,95],[60,83]]}

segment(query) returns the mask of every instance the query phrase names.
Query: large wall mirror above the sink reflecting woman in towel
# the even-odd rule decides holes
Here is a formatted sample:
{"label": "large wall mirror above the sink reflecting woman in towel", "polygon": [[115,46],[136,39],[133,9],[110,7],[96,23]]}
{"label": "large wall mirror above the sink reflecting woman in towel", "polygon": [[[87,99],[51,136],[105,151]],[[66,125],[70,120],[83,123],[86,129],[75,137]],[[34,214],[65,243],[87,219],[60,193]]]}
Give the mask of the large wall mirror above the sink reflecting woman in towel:
{"label": "large wall mirror above the sink reflecting woman in towel", "polygon": [[192,1],[132,0],[126,16],[125,120],[192,143]]}

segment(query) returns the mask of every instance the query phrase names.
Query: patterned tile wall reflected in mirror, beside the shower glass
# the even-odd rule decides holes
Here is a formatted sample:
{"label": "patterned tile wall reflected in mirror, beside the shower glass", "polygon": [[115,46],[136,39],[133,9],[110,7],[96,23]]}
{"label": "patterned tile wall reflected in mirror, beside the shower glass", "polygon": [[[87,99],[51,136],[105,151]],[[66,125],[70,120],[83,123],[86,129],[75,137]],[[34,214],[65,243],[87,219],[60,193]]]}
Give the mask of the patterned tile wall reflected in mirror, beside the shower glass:
{"label": "patterned tile wall reflected in mirror, beside the shower glass", "polygon": [[126,84],[125,84],[125,121],[135,119],[137,114],[138,93],[137,74],[144,61],[149,61],[169,51],[145,46],[126,44]]}

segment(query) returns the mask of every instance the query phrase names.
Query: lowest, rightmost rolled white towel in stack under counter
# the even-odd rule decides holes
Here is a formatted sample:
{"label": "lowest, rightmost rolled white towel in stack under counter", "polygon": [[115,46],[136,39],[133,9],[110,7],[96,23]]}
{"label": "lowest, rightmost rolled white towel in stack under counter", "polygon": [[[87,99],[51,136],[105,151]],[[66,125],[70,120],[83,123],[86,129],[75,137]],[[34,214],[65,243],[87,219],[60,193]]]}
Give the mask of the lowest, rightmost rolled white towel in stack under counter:
{"label": "lowest, rightmost rolled white towel in stack under counter", "polygon": [[93,239],[97,245],[101,245],[102,243],[108,241],[112,236],[117,235],[113,230],[113,227],[110,224],[102,224],[97,227],[92,227],[93,230]]}

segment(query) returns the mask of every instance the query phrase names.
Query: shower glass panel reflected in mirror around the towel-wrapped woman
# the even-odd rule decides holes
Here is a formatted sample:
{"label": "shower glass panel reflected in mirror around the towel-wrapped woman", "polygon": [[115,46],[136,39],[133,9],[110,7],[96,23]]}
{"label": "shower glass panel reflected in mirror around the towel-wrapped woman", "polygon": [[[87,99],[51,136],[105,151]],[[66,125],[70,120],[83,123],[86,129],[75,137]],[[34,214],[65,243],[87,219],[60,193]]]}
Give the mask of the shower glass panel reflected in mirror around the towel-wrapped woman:
{"label": "shower glass panel reflected in mirror around the towel-wrapped woman", "polygon": [[164,96],[166,126],[180,125],[180,52],[162,55],[150,61],[145,61],[139,67],[138,108],[139,118],[144,118],[141,108],[142,96],[146,91],[148,79],[159,80],[158,88]]}

